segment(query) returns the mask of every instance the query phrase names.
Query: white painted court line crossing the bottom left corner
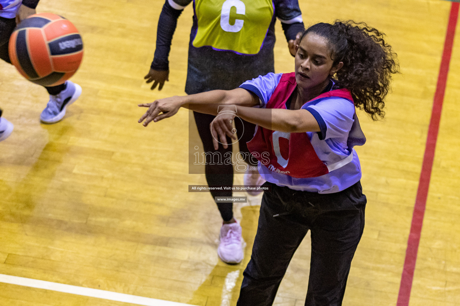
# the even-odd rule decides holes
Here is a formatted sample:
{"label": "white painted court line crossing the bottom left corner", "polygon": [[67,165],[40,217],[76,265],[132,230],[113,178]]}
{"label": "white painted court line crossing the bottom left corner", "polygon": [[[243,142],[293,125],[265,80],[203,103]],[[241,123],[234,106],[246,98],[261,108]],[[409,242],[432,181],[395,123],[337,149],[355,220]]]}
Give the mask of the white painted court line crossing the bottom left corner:
{"label": "white painted court line crossing the bottom left corner", "polygon": [[73,295],[83,295],[89,297],[95,297],[104,300],[115,300],[118,302],[131,303],[145,306],[191,306],[190,304],[171,302],[169,300],[157,300],[144,296],[127,295],[124,293],[92,289],[86,287],[79,287],[73,285],[59,284],[53,282],[47,282],[44,280],[23,278],[18,276],[0,274],[0,283],[13,284],[25,287],[32,287],[38,289],[46,289],[64,293],[70,293]]}

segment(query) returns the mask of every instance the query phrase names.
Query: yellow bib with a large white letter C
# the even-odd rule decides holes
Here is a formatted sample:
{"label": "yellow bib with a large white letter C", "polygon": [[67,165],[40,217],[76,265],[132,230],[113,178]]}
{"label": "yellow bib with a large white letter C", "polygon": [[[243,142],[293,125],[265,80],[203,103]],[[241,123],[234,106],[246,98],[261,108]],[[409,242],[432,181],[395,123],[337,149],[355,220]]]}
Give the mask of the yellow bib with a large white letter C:
{"label": "yellow bib with a large white letter C", "polygon": [[195,0],[196,48],[211,46],[240,54],[259,53],[271,18],[271,0]]}

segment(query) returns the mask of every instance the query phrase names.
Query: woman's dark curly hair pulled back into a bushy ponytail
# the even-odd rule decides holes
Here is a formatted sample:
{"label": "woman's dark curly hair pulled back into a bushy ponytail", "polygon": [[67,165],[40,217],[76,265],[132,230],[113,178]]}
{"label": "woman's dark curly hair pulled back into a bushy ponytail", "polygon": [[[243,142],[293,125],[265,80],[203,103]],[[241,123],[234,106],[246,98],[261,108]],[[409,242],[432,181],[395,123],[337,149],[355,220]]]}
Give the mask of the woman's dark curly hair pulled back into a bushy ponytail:
{"label": "woman's dark curly hair pulled back into a bushy ponytail", "polygon": [[366,111],[373,120],[385,116],[384,98],[390,90],[391,74],[399,72],[396,53],[385,43],[384,33],[364,22],[338,21],[317,23],[308,28],[328,39],[334,65],[342,61],[337,72],[341,88],[351,91],[355,105]]}

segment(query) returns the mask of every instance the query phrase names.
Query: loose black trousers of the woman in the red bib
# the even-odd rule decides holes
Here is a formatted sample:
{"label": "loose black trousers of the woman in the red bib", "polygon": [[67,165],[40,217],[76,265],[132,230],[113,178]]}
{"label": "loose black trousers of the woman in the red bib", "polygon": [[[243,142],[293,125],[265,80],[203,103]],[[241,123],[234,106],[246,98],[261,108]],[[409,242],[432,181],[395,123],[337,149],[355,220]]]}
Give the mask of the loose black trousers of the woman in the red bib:
{"label": "loose black trousers of the woman in the red bib", "polygon": [[271,306],[295,250],[311,231],[305,306],[341,306],[351,260],[364,229],[361,183],[333,194],[265,183],[251,260],[237,306]]}

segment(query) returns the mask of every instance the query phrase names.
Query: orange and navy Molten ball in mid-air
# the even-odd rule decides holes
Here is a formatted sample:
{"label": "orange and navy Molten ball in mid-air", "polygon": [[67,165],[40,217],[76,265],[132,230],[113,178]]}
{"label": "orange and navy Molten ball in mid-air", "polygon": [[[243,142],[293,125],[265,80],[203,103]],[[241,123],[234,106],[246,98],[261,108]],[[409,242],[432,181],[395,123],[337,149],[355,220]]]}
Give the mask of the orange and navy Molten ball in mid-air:
{"label": "orange and navy Molten ball in mid-air", "polygon": [[68,80],[83,58],[83,42],[69,20],[51,13],[19,23],[9,43],[11,63],[29,81],[56,86]]}

